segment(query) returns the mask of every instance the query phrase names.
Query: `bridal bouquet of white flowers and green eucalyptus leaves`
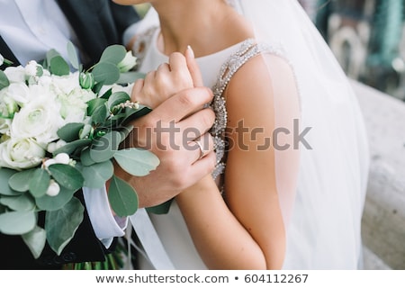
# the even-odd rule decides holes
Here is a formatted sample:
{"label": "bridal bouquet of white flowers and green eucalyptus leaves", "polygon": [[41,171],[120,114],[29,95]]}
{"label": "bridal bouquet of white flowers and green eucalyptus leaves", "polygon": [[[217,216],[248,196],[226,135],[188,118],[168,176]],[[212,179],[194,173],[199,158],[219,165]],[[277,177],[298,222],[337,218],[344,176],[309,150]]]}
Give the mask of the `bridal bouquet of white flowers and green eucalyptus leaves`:
{"label": "bridal bouquet of white flowers and green eucalyptus leaves", "polygon": [[73,44],[67,50],[70,65],[50,50],[42,64],[0,70],[0,232],[21,235],[34,257],[46,242],[60,254],[73,238],[84,215],[74,197],[82,187],[111,179],[112,210],[126,216],[138,209],[136,192],[114,175],[112,161],[139,176],[159,163],[146,150],[120,149],[129,121],[148,112],[130,102],[125,85],[140,76],[129,72],[136,58],[112,45],[85,70]]}

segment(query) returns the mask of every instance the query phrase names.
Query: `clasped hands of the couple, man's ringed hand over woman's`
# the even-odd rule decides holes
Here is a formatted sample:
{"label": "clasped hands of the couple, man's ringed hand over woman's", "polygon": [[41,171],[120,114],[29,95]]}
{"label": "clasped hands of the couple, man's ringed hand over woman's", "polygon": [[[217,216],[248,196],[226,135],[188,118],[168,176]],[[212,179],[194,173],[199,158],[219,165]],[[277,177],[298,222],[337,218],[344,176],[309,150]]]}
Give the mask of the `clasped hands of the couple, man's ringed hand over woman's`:
{"label": "clasped hands of the couple, man's ringed hand over woman's", "polygon": [[207,131],[215,115],[204,106],[211,99],[211,89],[202,86],[202,76],[190,48],[184,55],[173,53],[168,63],[135,83],[131,100],[147,105],[152,111],[132,122],[134,129],[124,146],[147,148],[159,158],[160,164],[142,177],[129,175],[118,165],[114,169],[117,176],[137,191],[139,207],[166,202],[211,173],[215,154]]}

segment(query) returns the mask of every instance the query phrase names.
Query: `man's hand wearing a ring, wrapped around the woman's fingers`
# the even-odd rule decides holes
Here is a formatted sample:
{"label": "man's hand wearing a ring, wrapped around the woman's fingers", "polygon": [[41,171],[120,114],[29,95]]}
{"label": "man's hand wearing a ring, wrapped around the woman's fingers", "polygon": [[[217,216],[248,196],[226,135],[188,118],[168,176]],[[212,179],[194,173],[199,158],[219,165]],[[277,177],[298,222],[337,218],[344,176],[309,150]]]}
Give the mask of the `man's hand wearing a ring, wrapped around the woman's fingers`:
{"label": "man's hand wearing a ring, wrapped around the woman's fingers", "polygon": [[[155,171],[142,177],[129,175],[115,166],[116,175],[137,191],[139,207],[166,202],[211,173],[216,160],[207,130],[215,115],[210,108],[203,108],[211,99],[211,90],[206,87],[185,89],[133,122],[127,147],[147,148],[160,160]],[[200,148],[193,141],[200,137],[206,149],[202,158]]]}

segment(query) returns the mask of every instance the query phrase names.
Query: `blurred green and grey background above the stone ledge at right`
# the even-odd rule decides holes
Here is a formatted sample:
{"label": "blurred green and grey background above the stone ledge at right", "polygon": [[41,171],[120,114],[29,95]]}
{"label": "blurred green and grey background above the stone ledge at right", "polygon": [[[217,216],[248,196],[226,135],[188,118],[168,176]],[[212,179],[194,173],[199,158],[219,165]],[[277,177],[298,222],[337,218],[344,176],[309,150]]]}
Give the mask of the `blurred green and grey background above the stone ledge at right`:
{"label": "blurred green and grey background above the stone ledge at right", "polygon": [[405,100],[404,0],[300,0],[347,76]]}

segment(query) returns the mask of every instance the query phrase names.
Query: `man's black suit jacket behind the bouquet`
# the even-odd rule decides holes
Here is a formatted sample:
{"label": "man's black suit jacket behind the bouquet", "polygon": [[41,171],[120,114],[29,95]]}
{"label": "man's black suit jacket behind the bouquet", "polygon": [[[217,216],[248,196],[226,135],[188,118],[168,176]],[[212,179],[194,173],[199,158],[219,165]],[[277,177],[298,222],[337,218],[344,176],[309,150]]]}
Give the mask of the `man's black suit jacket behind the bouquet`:
{"label": "man's black suit jacket behind the bouquet", "polygon": [[[130,24],[139,21],[139,16],[133,7],[114,4],[111,0],[58,0],[57,2],[75,30],[82,51],[88,58],[86,67],[98,61],[105,47],[120,44],[123,31]],[[14,61],[15,65],[19,64],[1,35],[0,54]],[[75,196],[84,203],[81,191]],[[40,215],[41,217],[43,215]],[[103,261],[105,253],[108,252],[95,237],[87,211],[85,211],[85,219],[76,231],[75,238],[60,256],[47,246],[40,258],[35,260],[21,237],[0,233],[1,269],[58,269],[65,263]]]}

